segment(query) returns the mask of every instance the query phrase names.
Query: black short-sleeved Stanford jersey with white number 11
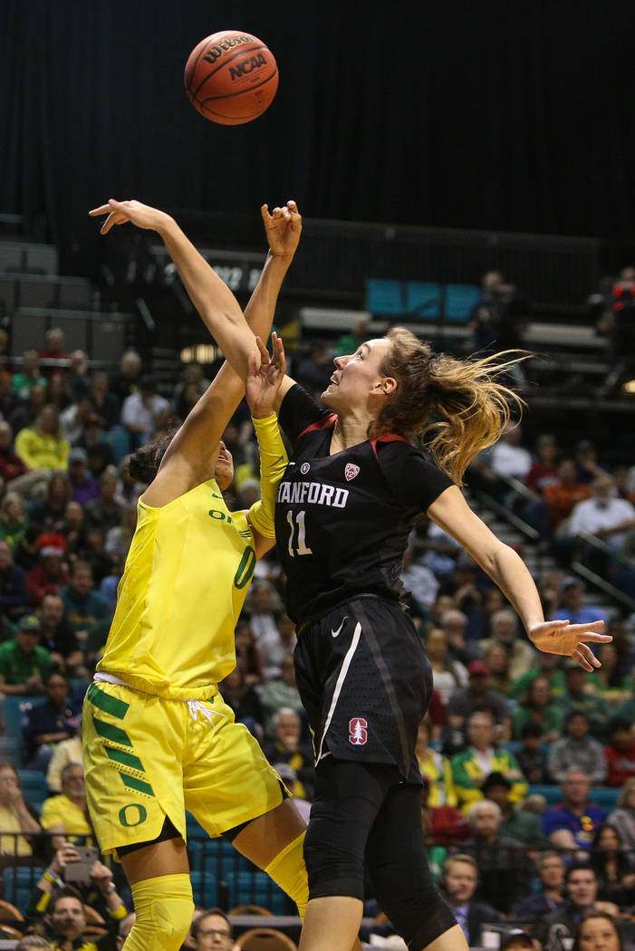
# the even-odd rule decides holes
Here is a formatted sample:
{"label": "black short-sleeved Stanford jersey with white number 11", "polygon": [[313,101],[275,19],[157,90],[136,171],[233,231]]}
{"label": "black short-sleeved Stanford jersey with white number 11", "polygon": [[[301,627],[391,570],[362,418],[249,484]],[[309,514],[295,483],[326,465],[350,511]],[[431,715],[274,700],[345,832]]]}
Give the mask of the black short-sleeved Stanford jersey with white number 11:
{"label": "black short-sleeved Stanford jersey with white number 11", "polygon": [[356,594],[397,600],[414,518],[453,484],[403,437],[330,456],[336,419],[298,384],[280,406],[292,453],[276,497],[276,540],[297,624]]}

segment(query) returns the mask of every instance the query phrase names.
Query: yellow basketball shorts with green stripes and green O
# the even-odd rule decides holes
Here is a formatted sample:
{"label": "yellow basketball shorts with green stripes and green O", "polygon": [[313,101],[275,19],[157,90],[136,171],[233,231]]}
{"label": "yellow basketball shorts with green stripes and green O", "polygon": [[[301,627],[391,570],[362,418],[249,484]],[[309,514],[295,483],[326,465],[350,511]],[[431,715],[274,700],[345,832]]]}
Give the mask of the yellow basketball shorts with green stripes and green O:
{"label": "yellow basketball shorts with green stripes and green O", "polygon": [[220,694],[195,703],[92,683],[82,743],[88,810],[105,854],[156,839],[165,816],[186,840],[186,809],[216,837],[285,795]]}

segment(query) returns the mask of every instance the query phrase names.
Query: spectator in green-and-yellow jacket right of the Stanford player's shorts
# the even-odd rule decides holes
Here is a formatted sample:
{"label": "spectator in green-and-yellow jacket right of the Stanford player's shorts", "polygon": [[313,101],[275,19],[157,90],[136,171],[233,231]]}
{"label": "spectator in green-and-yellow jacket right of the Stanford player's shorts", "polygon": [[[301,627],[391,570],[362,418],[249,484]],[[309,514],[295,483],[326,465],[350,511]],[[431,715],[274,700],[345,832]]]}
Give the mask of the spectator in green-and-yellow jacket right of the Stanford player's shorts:
{"label": "spectator in green-and-yellow jacket right of the Stanford player's shorts", "polygon": [[494,746],[494,723],[491,713],[472,713],[468,723],[470,746],[452,756],[452,779],[458,805],[467,811],[472,803],[483,798],[482,786],[492,772],[502,772],[512,782],[510,801],[518,803],[527,792],[527,783],[513,753]]}

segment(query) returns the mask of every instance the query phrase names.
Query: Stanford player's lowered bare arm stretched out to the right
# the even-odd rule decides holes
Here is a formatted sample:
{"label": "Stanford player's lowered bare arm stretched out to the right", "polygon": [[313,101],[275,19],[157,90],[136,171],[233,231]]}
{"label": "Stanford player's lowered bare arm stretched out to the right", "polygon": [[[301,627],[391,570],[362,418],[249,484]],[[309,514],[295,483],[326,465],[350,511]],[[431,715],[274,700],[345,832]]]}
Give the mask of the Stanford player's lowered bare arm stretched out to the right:
{"label": "Stanford player's lowered bare arm stretched out to the right", "polygon": [[534,647],[572,657],[584,670],[601,666],[586,642],[612,641],[610,634],[600,633],[604,621],[592,624],[546,621],[540,595],[524,562],[471,511],[459,489],[452,486],[441,493],[429,507],[428,515],[471,554],[509,598]]}

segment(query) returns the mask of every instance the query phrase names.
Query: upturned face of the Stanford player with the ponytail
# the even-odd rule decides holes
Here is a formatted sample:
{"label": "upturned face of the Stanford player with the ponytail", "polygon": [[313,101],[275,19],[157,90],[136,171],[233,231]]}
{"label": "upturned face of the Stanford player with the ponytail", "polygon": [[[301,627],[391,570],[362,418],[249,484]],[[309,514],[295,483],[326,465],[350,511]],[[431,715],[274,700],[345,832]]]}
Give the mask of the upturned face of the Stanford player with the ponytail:
{"label": "upturned face of the Stanford player with the ponytail", "polygon": [[322,394],[323,402],[338,411],[367,406],[369,396],[382,392],[381,381],[385,378],[380,368],[390,347],[390,340],[385,338],[367,340],[350,357],[336,357],[336,369]]}

